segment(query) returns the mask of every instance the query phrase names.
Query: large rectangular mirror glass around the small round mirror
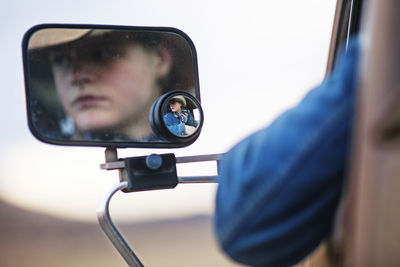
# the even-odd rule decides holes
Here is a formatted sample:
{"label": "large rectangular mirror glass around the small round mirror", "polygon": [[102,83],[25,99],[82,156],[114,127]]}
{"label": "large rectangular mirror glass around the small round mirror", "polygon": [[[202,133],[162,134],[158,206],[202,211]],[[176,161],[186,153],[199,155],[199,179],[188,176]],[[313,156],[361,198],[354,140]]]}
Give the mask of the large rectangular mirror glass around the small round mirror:
{"label": "large rectangular mirror glass around the small round mirror", "polygon": [[[153,102],[175,90],[200,96],[193,43],[171,28],[42,25],[25,35],[24,64],[29,126],[49,143],[168,147],[150,126]],[[191,134],[195,109],[181,102]]]}

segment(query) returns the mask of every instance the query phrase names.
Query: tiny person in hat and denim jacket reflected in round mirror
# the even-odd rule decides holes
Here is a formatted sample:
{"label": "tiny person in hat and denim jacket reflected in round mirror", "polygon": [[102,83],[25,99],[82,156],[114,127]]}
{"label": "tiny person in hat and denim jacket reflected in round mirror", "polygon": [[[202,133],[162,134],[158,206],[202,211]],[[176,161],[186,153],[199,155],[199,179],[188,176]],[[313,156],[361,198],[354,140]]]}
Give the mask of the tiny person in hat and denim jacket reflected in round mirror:
{"label": "tiny person in hat and denim jacket reflected in round mirror", "polygon": [[174,96],[169,101],[170,112],[164,115],[164,122],[168,130],[177,136],[191,135],[196,131],[197,121],[193,119],[186,107],[183,96]]}

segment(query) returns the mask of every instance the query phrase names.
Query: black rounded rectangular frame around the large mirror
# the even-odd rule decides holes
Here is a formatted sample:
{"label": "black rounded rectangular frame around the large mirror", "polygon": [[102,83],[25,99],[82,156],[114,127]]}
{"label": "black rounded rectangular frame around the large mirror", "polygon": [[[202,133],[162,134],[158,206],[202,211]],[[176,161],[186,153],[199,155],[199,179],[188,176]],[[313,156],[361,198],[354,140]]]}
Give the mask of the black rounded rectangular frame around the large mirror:
{"label": "black rounded rectangular frame around the large mirror", "polygon": [[[37,131],[33,121],[32,114],[30,114],[31,108],[31,97],[29,93],[29,56],[28,56],[28,43],[32,34],[41,29],[48,28],[70,28],[70,29],[114,29],[114,30],[135,30],[135,31],[146,31],[146,32],[165,32],[177,34],[182,37],[187,44],[192,53],[192,63],[193,63],[193,71],[194,71],[194,88],[193,94],[194,98],[198,100],[200,103],[200,86],[199,86],[199,75],[198,75],[198,64],[197,64],[197,52],[194,46],[193,41],[189,38],[186,33],[183,31],[172,28],[172,27],[149,27],[149,26],[118,26],[118,25],[94,25],[94,24],[39,24],[31,27],[23,36],[22,40],[22,57],[23,57],[23,68],[24,68],[24,80],[25,80],[25,95],[26,95],[26,109],[27,109],[27,118],[28,118],[28,126],[31,133],[40,141],[44,143],[54,144],[54,145],[66,145],[66,146],[91,146],[91,147],[110,147],[110,148],[180,148],[185,147],[194,142],[194,140],[198,137],[196,134],[196,138],[187,139],[182,142],[182,140],[177,141],[167,141],[162,140],[160,142],[142,142],[142,141],[113,141],[113,142],[103,142],[103,141],[89,141],[89,140],[57,140],[51,139],[46,136],[40,134]],[[200,133],[200,131],[197,131]]]}

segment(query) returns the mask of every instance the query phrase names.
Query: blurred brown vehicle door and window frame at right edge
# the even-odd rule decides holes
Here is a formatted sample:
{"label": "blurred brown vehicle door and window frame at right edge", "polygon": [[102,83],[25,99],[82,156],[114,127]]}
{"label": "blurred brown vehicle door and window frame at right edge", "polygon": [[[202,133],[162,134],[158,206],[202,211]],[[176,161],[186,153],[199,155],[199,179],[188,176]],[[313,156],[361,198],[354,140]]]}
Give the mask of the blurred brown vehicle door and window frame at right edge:
{"label": "blurred brown vehicle door and window frame at right edge", "polygon": [[336,227],[301,266],[400,263],[400,3],[338,1],[327,73],[340,43],[360,35],[352,157]]}

